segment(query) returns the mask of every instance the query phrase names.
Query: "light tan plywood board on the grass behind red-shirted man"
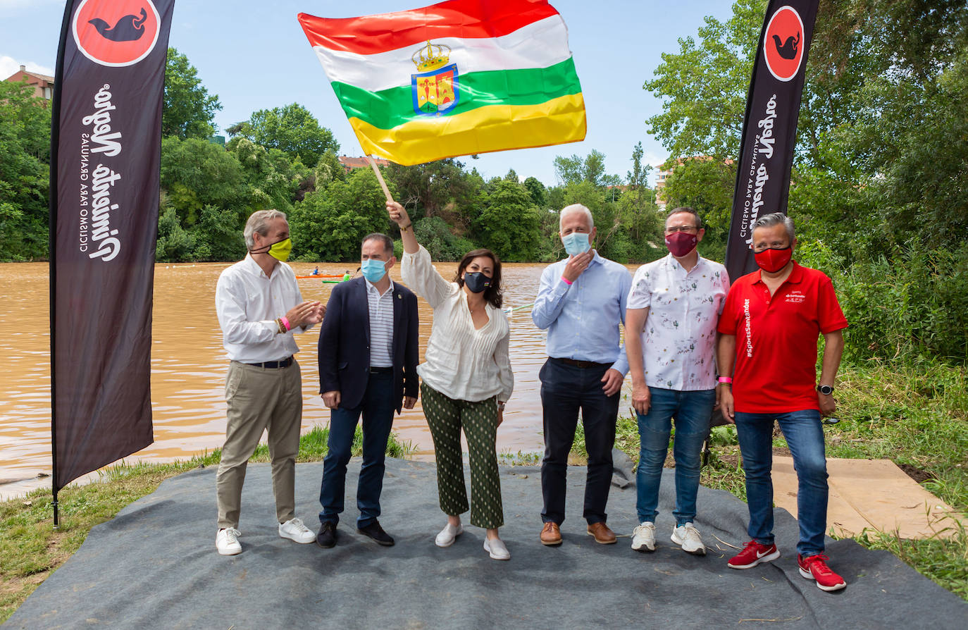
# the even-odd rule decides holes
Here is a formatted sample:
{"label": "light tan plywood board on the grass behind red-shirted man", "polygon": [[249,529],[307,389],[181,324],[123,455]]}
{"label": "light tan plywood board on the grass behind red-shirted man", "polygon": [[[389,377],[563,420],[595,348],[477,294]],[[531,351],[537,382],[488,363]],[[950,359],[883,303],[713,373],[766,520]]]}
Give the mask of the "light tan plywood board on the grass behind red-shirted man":
{"label": "light tan plywood board on the grass behind red-shirted man", "polygon": [[[953,519],[964,522],[891,460],[828,459],[827,472],[827,524],[839,536],[867,528],[897,531],[902,538],[948,537],[956,528]],[[797,473],[791,457],[773,456],[773,500],[797,514]]]}

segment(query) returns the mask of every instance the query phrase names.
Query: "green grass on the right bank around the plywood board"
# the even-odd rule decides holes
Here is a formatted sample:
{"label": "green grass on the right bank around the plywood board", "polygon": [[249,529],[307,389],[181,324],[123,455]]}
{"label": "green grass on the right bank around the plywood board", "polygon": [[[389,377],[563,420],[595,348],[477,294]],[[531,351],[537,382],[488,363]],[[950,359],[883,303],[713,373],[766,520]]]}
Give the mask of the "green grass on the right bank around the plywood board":
{"label": "green grass on the right bank around the plywood board", "polygon": [[[888,459],[930,493],[961,514],[968,514],[968,369],[921,360],[905,365],[871,360],[845,365],[837,375],[836,416],[825,425],[827,456]],[[634,418],[620,418],[616,446],[633,462],[639,458]],[[717,427],[711,435],[704,486],[746,500],[740,447],[735,427]],[[786,446],[782,436],[774,446]],[[670,448],[667,465],[672,464]],[[579,424],[572,454],[587,457]],[[964,525],[948,539],[906,540],[896,533],[864,531],[857,542],[886,549],[927,578],[968,601],[968,535]]]}

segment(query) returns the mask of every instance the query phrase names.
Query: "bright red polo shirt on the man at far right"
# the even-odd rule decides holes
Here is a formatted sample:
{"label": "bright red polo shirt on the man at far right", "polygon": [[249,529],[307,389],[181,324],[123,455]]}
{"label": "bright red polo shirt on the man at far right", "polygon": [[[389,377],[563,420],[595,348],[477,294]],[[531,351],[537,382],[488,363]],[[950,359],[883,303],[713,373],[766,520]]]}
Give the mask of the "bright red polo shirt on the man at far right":
{"label": "bright red polo shirt on the man at far right", "polygon": [[819,410],[817,339],[846,327],[831,279],[816,269],[794,262],[772,297],[759,271],[736,281],[717,326],[723,335],[736,335],[736,410]]}

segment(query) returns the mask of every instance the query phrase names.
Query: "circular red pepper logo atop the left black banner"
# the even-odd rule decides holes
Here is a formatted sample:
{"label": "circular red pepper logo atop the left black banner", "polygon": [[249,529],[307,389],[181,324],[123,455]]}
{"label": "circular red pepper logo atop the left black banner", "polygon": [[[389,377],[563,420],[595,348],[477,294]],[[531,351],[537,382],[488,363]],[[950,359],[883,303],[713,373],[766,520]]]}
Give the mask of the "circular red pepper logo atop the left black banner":
{"label": "circular red pepper logo atop the left black banner", "polygon": [[83,0],[72,28],[77,48],[102,66],[131,66],[158,43],[161,18],[151,0]]}

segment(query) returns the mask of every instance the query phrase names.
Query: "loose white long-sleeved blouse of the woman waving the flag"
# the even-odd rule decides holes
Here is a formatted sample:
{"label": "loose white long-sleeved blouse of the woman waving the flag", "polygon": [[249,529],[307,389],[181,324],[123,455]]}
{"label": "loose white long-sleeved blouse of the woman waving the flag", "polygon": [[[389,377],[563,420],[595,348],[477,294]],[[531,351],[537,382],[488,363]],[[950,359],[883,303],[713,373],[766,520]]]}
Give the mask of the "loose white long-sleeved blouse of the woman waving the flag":
{"label": "loose white long-sleeved blouse of the woman waving the flag", "polygon": [[488,322],[475,329],[464,289],[440,276],[422,245],[416,254],[404,254],[400,274],[404,284],[434,309],[427,354],[417,374],[455,400],[478,402],[497,396],[506,402],[514,390],[507,316],[485,302]]}

